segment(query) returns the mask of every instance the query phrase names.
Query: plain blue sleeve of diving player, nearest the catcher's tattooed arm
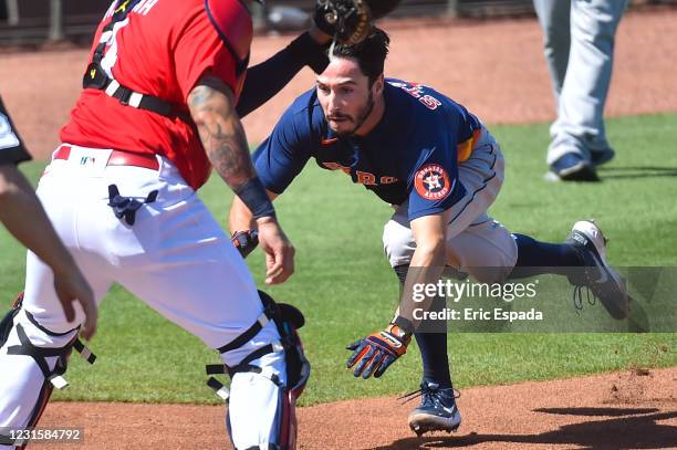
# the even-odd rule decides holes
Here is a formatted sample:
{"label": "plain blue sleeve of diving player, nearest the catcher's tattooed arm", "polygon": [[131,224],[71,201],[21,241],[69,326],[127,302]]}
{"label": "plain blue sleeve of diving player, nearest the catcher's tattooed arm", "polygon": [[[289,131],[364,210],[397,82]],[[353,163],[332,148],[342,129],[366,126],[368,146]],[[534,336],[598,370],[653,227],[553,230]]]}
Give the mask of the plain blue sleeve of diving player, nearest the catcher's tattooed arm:
{"label": "plain blue sleeve of diving player, nearest the catcher's tattooed arm", "polygon": [[288,109],[254,151],[254,167],[265,189],[282,193],[308,163],[311,129],[306,121],[304,114]]}

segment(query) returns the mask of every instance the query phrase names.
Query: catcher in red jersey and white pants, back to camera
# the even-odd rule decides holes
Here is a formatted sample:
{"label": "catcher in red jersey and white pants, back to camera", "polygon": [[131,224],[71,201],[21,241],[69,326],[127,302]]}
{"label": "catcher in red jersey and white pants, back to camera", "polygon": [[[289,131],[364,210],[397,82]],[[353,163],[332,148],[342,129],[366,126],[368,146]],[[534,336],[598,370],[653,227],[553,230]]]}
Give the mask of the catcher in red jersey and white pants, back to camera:
{"label": "catcher in red jersey and white pants, back to camera", "polygon": [[[305,64],[322,72],[321,44],[332,35],[356,42],[385,12],[366,2],[319,2],[316,27],[248,71],[249,4],[113,1],[37,193],[96,303],[117,282],[220,353],[220,373],[231,384],[229,393],[218,393],[229,395],[227,428],[237,449],[293,449],[294,401],[309,373],[295,333],[302,316],[257,291],[196,191],[213,167],[252,212],[267,283],[284,282],[293,272],[293,247],[254,171],[240,117]],[[88,311],[75,304],[65,315],[54,276],[29,252],[23,300],[0,333],[2,430],[38,423],[52,388],[66,385],[72,348],[94,359],[77,339]],[[25,444],[0,435],[0,448]]]}

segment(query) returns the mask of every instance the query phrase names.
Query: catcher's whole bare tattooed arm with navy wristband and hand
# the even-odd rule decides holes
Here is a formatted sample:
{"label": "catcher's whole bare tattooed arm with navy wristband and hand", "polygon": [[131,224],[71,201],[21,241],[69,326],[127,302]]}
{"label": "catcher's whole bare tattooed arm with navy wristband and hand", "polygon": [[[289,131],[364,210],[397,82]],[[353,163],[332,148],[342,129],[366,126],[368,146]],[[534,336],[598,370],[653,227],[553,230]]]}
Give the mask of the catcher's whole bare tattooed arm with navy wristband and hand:
{"label": "catcher's whole bare tattooed arm with navy wristband and hand", "polygon": [[294,248],[278,224],[274,209],[251,161],[232,91],[210,73],[188,94],[190,115],[213,168],[253,211],[265,252],[265,283],[287,281],[294,271]]}

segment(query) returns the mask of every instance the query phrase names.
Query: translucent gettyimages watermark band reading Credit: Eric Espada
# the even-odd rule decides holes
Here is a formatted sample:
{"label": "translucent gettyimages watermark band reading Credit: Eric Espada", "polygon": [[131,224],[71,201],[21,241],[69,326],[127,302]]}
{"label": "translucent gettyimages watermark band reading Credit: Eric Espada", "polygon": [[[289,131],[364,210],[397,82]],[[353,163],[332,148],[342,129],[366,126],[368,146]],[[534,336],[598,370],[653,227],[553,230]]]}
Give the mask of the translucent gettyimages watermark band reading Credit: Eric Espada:
{"label": "translucent gettyimages watermark band reading Credit: Eric Espada", "polygon": [[[504,283],[482,283],[454,272],[424,283],[425,272],[416,272],[420,270],[409,268],[408,275],[421,282],[415,282],[399,304],[400,311],[410,312],[419,333],[677,333],[674,266],[616,268],[623,295],[608,276],[592,278],[600,280],[596,290],[576,287],[570,280],[583,279],[583,268],[537,268],[543,274]],[[604,291],[602,301],[597,294]],[[627,314],[618,318],[613,310],[621,304]]]}

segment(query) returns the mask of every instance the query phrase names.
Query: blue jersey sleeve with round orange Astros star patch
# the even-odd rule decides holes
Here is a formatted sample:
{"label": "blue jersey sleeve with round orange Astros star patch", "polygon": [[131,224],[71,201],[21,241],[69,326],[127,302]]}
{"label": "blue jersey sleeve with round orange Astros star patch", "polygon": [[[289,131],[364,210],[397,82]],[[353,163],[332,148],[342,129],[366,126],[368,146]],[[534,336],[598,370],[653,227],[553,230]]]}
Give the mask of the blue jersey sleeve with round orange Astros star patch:
{"label": "blue jersey sleeve with round orange Astros star patch", "polygon": [[438,214],[462,196],[458,182],[456,145],[424,148],[409,174],[409,220]]}

